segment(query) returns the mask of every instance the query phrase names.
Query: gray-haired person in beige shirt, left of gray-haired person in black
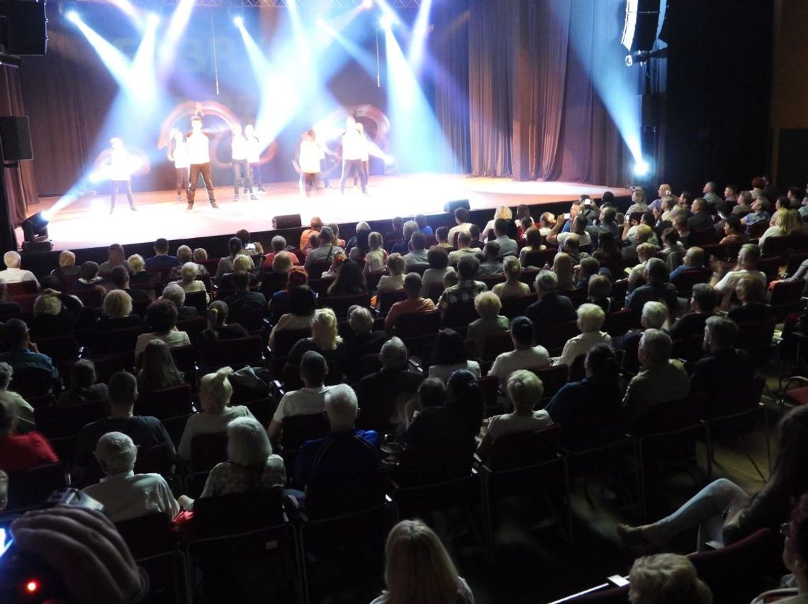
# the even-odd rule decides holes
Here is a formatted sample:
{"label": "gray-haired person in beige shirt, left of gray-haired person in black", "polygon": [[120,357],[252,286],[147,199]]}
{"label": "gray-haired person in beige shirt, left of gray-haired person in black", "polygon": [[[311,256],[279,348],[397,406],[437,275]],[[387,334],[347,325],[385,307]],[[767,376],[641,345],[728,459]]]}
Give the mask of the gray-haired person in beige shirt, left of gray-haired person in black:
{"label": "gray-haired person in beige shirt, left of gray-haired person in black", "polygon": [[660,329],[646,329],[640,338],[641,371],[629,382],[623,406],[635,413],[652,405],[678,401],[690,393],[690,378],[679,360],[671,359],[673,342]]}

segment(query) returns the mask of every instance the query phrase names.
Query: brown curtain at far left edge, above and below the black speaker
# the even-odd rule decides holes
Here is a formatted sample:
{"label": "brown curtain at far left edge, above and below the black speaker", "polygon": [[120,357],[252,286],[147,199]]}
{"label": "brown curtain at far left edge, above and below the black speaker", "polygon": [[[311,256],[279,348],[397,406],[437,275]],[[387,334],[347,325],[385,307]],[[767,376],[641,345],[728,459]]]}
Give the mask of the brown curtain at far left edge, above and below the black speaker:
{"label": "brown curtain at far left edge, above and below the black speaker", "polygon": [[[0,67],[0,115],[26,115],[18,69]],[[34,154],[36,155],[36,149]],[[38,197],[32,162],[19,161],[18,166],[3,169],[8,216],[12,226],[25,220],[27,205],[36,203]]]}

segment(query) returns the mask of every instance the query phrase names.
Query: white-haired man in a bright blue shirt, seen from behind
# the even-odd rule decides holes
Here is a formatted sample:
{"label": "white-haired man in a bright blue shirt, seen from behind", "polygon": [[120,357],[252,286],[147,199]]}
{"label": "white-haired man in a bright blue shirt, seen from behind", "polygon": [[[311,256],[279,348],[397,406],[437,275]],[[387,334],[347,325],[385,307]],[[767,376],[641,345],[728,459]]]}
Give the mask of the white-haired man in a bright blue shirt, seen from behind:
{"label": "white-haired man in a bright blue shirt, seen from behind", "polygon": [[353,388],[347,384],[329,388],[326,416],[331,431],[301,447],[295,463],[298,485],[360,480],[379,468],[381,438],[373,430],[356,430],[358,412]]}

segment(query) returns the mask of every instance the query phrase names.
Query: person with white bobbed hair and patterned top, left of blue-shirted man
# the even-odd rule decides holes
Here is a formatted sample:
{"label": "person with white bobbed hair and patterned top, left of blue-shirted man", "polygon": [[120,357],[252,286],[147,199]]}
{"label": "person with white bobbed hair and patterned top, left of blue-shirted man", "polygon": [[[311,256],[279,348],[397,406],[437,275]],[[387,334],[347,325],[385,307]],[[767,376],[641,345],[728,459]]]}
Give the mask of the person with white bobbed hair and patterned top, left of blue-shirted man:
{"label": "person with white bobbed hair and patterned top, left of blue-shirted man", "polygon": [[[267,431],[253,417],[237,417],[227,425],[227,461],[213,466],[200,498],[252,493],[285,484],[284,459],[272,453]],[[179,499],[183,510],[193,506],[190,497]]]}

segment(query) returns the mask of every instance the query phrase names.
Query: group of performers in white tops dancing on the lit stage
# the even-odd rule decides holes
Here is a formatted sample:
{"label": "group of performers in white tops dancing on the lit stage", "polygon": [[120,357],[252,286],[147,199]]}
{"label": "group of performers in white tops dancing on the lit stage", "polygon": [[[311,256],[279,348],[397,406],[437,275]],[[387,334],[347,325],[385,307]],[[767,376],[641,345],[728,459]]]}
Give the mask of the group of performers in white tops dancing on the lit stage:
{"label": "group of performers in white tops dancing on the lit stage", "polygon": [[[242,185],[243,195],[247,195],[249,191],[250,199],[258,199],[253,189],[254,183],[258,191],[264,192],[265,190],[263,182],[261,182],[261,143],[258,136],[255,135],[255,127],[249,124],[242,131],[242,127],[237,124],[231,128],[231,134],[233,200],[238,201],[239,187]],[[179,128],[174,128],[170,133],[168,159],[174,163],[177,201],[182,202],[182,194],[185,191],[189,211],[194,207],[196,185],[200,175],[208,193],[208,203],[212,208],[219,207],[213,191],[213,174],[210,163],[211,136],[210,132],[206,132],[202,128],[200,115],[191,117],[191,132],[183,133]],[[116,197],[121,189],[126,194],[129,209],[137,211],[132,195],[131,157],[124,149],[123,141],[118,137],[110,141],[110,147],[107,166],[112,182],[110,213],[115,211]],[[356,186],[358,178],[362,192],[368,192],[369,153],[370,142],[364,135],[362,124],[349,115],[345,131],[342,134],[342,175],[339,179],[341,193],[345,193],[345,182],[351,176],[354,179],[354,186]],[[314,130],[305,132],[301,137],[296,156],[292,159],[292,165],[300,173],[301,195],[308,197],[322,191],[323,176],[325,176],[325,186],[328,186],[327,177],[330,170],[325,174],[322,170],[322,162],[326,160],[327,156],[337,157],[337,154],[318,141]],[[334,167],[336,166],[339,166],[339,163]]]}

